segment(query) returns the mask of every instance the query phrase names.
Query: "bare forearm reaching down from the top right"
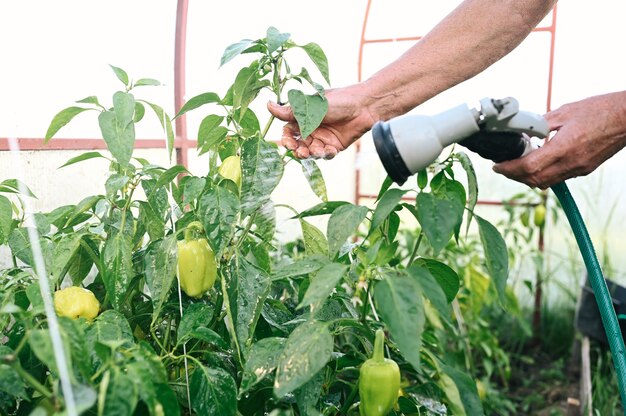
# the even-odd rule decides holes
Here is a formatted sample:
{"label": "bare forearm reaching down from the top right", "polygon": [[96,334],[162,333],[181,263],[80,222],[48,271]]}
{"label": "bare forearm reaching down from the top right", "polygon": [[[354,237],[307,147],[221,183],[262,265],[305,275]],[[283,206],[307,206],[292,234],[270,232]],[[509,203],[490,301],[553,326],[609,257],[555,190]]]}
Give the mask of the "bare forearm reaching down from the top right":
{"label": "bare forearm reaching down from the top right", "polygon": [[517,47],[556,0],[466,0],[360,85],[372,118],[401,115],[482,72]]}

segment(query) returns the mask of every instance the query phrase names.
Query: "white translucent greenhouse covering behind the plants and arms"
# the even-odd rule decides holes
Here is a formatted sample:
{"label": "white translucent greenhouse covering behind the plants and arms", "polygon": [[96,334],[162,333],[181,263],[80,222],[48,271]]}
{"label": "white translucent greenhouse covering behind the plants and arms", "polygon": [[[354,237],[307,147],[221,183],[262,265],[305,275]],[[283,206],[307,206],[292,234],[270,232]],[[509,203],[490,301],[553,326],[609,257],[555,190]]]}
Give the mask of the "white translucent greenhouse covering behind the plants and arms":
{"label": "white translucent greenhouse covering behind the plants and arms", "polygon": [[[271,25],[292,33],[296,42],[319,43],[330,62],[333,86],[356,82],[366,3],[366,0],[191,0],[187,97],[206,91],[223,94],[236,71],[248,62],[246,57],[237,58],[218,70],[224,48],[242,38],[262,37]],[[366,37],[423,35],[458,3],[458,0],[374,0]],[[626,4],[618,0],[559,4],[553,108],[590,95],[626,89],[625,12]],[[108,64],[126,69],[134,78],[163,81],[164,87],[146,88],[141,95],[161,104],[172,114],[175,18],[174,0],[1,2],[0,137],[43,137],[54,114],[88,95],[97,95],[105,105],[109,104],[110,96],[119,88],[119,81]],[[372,74],[409,46],[406,42],[366,46],[364,76]],[[474,103],[484,96],[511,95],[520,100],[524,109],[542,113],[546,109],[548,46],[548,34],[532,34],[483,74],[415,111],[431,114],[461,102]],[[294,66],[306,62],[303,55],[296,54],[294,58]],[[263,102],[254,109],[263,122],[267,117]],[[197,111],[189,116],[192,137],[206,114]],[[138,126],[137,136],[163,138],[156,118],[147,114],[146,120]],[[93,138],[99,137],[98,134],[94,115],[82,114],[71,126],[62,129],[58,137]],[[280,125],[275,124],[271,135],[280,136]],[[375,191],[382,181],[382,170],[371,151],[371,138],[365,137],[362,142],[364,153],[358,165],[365,168],[364,190]],[[138,153],[163,165],[170,163],[165,151]],[[71,151],[24,153],[27,168],[24,179],[40,197],[35,202],[37,209],[76,203],[85,195],[104,191],[107,166],[101,162],[57,170],[75,154]],[[618,278],[626,274],[626,244],[621,238],[626,223],[626,205],[622,203],[626,186],[622,180],[626,173],[624,162],[626,152],[618,154],[592,175],[571,181],[592,237],[599,251],[612,259],[617,270],[613,277]],[[13,177],[13,163],[8,154],[0,152],[0,179]],[[204,174],[205,163],[203,158],[193,157],[194,173]],[[475,159],[475,163],[481,198],[499,200],[524,189],[492,173],[489,162]],[[351,200],[354,152],[348,150],[320,166],[329,197]],[[304,209],[318,200],[295,168],[288,167],[275,200]],[[614,205],[615,213],[607,226],[608,212]],[[491,210],[488,215],[495,215],[495,212]],[[282,223],[284,239],[297,235],[298,229],[292,225]],[[569,255],[571,243],[565,238],[567,229],[561,224],[549,228],[548,233],[548,250]],[[606,250],[602,247],[604,243]]]}

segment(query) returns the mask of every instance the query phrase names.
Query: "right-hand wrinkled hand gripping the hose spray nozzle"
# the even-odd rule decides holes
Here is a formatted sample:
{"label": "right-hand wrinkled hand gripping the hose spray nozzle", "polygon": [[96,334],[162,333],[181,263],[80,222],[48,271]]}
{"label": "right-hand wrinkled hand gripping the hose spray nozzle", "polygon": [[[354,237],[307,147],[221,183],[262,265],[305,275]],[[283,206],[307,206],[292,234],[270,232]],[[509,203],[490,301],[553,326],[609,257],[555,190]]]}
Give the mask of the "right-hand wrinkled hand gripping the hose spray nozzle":
{"label": "right-hand wrinkled hand gripping the hose spray nozzle", "polygon": [[554,136],[544,146],[493,170],[530,187],[593,172],[626,146],[626,91],[566,104],[545,115]]}

